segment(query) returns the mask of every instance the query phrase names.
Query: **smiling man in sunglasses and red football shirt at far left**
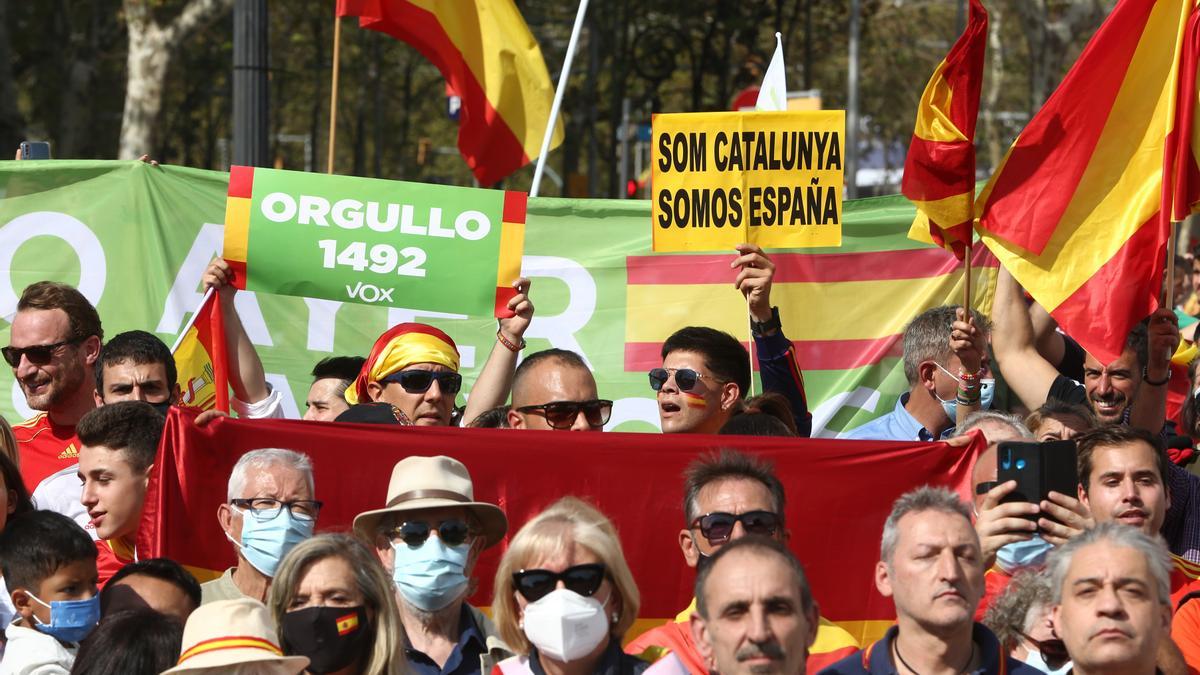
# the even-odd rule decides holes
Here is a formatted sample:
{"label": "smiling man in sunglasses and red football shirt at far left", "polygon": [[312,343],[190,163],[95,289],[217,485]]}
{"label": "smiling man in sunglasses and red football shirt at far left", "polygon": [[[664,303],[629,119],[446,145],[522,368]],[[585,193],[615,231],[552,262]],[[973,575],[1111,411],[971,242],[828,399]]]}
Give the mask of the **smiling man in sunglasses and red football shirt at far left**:
{"label": "smiling man in sunglasses and red football shirt at far left", "polygon": [[96,307],[66,283],[38,281],[17,301],[10,342],[0,352],[25,402],[42,411],[13,425],[20,474],[30,492],[79,460],[74,428],[96,407],[92,369],[103,336]]}

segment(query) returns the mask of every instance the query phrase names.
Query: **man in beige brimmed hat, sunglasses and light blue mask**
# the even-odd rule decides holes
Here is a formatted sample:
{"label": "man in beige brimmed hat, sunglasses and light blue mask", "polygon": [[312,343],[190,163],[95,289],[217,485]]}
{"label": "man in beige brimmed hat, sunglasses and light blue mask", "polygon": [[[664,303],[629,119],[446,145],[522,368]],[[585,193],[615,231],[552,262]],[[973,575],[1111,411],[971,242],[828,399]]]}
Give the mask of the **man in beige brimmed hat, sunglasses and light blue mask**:
{"label": "man in beige brimmed hat, sunglasses and light blue mask", "polygon": [[511,656],[492,622],[467,604],[480,554],[509,526],[499,507],[474,495],[458,460],[409,456],[392,468],[388,506],[354,518],[355,534],[374,544],[395,581],[414,675],[487,675]]}

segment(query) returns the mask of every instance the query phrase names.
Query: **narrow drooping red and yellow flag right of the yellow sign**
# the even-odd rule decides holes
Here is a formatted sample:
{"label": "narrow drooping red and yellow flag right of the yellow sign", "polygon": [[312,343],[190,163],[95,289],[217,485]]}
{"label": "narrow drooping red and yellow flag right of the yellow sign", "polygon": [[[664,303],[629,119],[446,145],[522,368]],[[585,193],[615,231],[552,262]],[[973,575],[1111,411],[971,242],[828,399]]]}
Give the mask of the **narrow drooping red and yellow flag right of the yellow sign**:
{"label": "narrow drooping red and yellow flag right of the yellow sign", "polygon": [[986,44],[988,12],[971,0],[966,30],[920,96],[900,184],[917,204],[908,237],[949,249],[960,261],[974,221],[974,127]]}

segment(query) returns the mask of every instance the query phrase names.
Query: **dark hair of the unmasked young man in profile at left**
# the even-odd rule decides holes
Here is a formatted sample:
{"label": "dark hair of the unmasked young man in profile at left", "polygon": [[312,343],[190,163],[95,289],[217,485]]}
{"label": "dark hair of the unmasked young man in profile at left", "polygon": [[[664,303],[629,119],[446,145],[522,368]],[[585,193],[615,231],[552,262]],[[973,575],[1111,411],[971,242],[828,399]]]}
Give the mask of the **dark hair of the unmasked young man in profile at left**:
{"label": "dark hair of the unmasked young man in profile at left", "polygon": [[166,418],[143,401],[119,401],[94,408],[76,426],[79,442],[121,450],[137,472],[144,472],[158,454]]}

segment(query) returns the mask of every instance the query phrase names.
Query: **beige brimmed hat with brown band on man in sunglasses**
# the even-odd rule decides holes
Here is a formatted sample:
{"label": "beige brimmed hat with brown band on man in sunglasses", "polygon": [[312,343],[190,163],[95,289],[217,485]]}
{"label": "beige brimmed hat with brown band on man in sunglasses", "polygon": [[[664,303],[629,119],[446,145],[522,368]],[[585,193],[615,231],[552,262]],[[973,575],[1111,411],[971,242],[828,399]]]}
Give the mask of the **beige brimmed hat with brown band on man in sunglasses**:
{"label": "beige brimmed hat with brown band on man in sunglasses", "polygon": [[479,519],[487,545],[504,538],[509,519],[496,504],[475,501],[467,467],[456,459],[410,456],[396,462],[388,483],[388,506],[354,516],[354,532],[374,540],[379,522],[390,514],[430,508],[463,507]]}

